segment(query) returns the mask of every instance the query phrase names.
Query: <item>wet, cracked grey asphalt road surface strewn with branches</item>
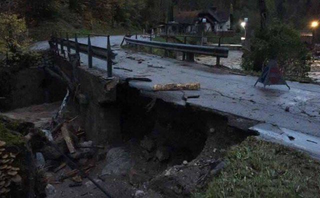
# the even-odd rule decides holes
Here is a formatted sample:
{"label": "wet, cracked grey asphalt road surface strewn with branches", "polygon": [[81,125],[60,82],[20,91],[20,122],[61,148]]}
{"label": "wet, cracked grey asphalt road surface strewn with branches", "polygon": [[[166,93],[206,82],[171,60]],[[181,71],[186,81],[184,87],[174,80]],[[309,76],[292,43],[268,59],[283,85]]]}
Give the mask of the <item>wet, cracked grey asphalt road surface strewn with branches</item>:
{"label": "wet, cracked grey asphalt road surface strewn with branches", "polygon": [[[254,87],[257,77],[233,75],[198,63],[182,62],[155,55],[124,50],[120,48],[123,36],[112,36],[112,50],[117,53],[113,75],[120,79],[146,77],[152,82],[130,81],[130,86],[141,90],[148,97],[162,99],[179,105],[193,105],[211,109],[223,114],[256,120],[273,126],[283,127],[315,137],[320,137],[320,86],[287,81],[285,86]],[[79,39],[86,44],[87,39]],[[91,38],[94,46],[105,47],[105,37]],[[33,49],[46,49],[46,43],[37,43]],[[87,56],[81,54],[83,67]],[[164,67],[163,69],[148,66]],[[106,70],[106,62],[93,58],[93,67]],[[153,92],[155,84],[200,83],[199,91]],[[182,95],[200,95],[196,99],[182,100]],[[289,111],[285,109],[289,108]],[[196,118],[195,118],[196,119]],[[320,145],[320,142],[318,143]]]}

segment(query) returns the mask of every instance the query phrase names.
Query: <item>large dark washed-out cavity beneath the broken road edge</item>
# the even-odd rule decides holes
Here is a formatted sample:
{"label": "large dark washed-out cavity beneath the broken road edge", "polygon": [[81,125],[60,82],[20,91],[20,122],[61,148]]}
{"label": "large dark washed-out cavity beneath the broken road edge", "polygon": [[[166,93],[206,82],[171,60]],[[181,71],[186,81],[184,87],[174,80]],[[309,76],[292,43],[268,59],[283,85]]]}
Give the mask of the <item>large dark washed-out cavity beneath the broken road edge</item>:
{"label": "large dark washed-out cavity beneath the broken road edge", "polygon": [[117,105],[123,142],[133,147],[133,156],[160,164],[158,171],[196,158],[220,158],[248,135],[229,127],[223,116],[143,97],[125,84],[117,88]]}

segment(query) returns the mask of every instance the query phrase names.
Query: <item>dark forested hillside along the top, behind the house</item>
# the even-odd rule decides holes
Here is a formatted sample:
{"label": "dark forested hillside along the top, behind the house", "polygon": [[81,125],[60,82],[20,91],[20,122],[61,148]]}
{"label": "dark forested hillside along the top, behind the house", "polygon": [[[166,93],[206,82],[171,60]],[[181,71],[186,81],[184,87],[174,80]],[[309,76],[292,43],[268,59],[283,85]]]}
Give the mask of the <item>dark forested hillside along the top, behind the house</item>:
{"label": "dark forested hillside along the top, behind the house", "polygon": [[[167,22],[172,13],[206,9],[211,6],[231,10],[235,20],[259,21],[259,0],[4,0],[1,13],[18,14],[28,27],[52,20],[63,20],[75,29],[94,29],[94,24],[109,28],[150,28]],[[320,18],[318,0],[265,0],[268,16],[296,29]],[[235,24],[237,25],[237,24]]]}

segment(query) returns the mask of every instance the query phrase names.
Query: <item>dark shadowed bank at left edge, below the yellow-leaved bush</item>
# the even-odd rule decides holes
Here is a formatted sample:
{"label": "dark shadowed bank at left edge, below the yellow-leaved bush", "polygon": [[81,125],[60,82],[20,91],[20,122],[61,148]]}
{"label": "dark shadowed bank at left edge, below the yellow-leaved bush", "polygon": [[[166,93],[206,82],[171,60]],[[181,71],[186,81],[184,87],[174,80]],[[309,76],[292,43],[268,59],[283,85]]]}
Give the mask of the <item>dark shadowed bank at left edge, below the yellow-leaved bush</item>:
{"label": "dark shadowed bank at left edge, below the yellow-leaved bush", "polygon": [[0,111],[60,101],[65,85],[41,67],[14,70],[0,67]]}

